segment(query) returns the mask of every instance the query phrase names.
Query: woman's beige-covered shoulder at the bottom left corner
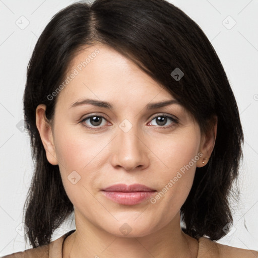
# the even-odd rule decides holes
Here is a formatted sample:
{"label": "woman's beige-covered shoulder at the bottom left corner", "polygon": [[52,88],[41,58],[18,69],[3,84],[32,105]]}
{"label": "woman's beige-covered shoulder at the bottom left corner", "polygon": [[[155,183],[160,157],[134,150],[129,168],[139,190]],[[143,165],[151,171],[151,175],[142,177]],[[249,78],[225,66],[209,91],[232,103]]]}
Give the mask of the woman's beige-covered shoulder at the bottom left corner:
{"label": "woman's beige-covered shoulder at the bottom left corner", "polygon": [[48,245],[41,245],[24,251],[14,252],[0,258],[48,258]]}

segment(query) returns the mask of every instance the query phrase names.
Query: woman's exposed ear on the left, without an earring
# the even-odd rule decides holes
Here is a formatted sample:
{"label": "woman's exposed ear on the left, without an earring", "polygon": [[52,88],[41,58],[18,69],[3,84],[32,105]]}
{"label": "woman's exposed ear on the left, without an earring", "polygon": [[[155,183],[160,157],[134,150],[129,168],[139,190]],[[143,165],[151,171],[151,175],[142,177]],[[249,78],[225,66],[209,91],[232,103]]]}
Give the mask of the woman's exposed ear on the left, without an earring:
{"label": "woman's exposed ear on the left, without an earring", "polygon": [[46,118],[46,105],[40,104],[36,109],[36,125],[40,134],[40,138],[44,149],[46,151],[46,157],[50,164],[57,165],[52,127],[49,120]]}

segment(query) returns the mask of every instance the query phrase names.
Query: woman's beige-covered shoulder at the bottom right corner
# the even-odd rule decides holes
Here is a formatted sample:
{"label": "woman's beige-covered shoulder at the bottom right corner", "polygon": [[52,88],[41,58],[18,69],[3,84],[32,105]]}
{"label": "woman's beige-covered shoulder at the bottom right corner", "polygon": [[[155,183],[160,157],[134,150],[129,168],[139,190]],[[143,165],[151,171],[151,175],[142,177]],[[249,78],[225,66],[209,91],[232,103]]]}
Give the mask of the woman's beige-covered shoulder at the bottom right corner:
{"label": "woman's beige-covered shoulder at the bottom right corner", "polygon": [[258,251],[220,244],[207,237],[199,238],[198,258],[258,258]]}

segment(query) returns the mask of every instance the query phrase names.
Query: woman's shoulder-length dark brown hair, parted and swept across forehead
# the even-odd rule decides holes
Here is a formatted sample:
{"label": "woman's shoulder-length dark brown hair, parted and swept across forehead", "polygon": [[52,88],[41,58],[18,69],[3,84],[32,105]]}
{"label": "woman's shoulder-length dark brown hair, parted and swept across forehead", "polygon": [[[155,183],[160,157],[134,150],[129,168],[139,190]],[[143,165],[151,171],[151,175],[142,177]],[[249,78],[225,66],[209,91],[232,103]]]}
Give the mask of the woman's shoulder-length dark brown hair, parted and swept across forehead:
{"label": "woman's shoulder-length dark brown hair, parted and swept across forehead", "polygon": [[[74,211],[62,185],[58,165],[46,158],[36,127],[36,108],[46,105],[54,115],[54,92],[73,57],[94,43],[114,48],[168,90],[207,131],[218,117],[217,139],[209,162],[197,168],[181,207],[184,232],[218,240],[232,223],[231,186],[242,157],[242,127],[237,104],[222,64],[202,29],[184,12],[164,0],[96,0],[78,2],[59,11],[40,35],[27,68],[24,92],[25,128],[35,161],[24,205],[26,236],[33,247],[48,244],[51,235]],[[170,74],[179,68],[184,76]]]}

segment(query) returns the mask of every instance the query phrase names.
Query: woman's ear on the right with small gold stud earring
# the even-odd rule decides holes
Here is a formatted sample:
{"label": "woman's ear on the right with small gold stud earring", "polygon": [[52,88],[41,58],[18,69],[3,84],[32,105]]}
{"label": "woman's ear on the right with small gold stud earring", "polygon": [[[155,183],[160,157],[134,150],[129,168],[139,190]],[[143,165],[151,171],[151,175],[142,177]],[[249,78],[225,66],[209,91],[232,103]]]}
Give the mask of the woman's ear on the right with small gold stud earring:
{"label": "woman's ear on the right with small gold stud earring", "polygon": [[205,166],[212,154],[217,136],[218,117],[214,115],[210,120],[210,127],[201,137],[200,150],[203,156],[197,161],[197,167]]}

